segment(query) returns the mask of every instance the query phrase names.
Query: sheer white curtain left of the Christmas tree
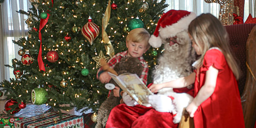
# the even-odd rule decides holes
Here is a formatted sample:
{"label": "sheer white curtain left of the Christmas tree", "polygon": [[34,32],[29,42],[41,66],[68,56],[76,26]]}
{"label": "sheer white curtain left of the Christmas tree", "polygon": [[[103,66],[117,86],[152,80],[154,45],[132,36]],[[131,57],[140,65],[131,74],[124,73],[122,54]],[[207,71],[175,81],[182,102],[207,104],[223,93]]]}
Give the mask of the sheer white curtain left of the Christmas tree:
{"label": "sheer white curtain left of the Christmas tree", "polygon": [[28,35],[28,27],[25,23],[26,15],[16,11],[31,8],[27,0],[4,0],[0,6],[0,81],[9,80],[14,77],[12,69],[5,67],[5,64],[12,64],[12,59],[20,59],[18,55],[19,46],[12,43],[22,36]]}

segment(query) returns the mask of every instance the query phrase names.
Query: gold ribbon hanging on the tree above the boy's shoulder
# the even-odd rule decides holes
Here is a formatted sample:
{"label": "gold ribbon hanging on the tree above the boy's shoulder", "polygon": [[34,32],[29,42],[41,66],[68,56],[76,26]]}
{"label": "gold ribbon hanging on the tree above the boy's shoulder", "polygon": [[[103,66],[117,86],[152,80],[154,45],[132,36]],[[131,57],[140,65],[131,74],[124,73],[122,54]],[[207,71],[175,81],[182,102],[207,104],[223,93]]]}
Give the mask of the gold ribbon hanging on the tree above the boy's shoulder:
{"label": "gold ribbon hanging on the tree above the boy's shoulder", "polygon": [[105,32],[105,29],[108,26],[108,21],[110,19],[110,12],[111,12],[111,0],[108,1],[108,6],[105,11],[105,15],[102,18],[102,40],[105,44],[105,49],[107,51],[107,54],[112,58],[115,55],[115,51],[113,49],[113,46],[108,38],[107,32]]}

